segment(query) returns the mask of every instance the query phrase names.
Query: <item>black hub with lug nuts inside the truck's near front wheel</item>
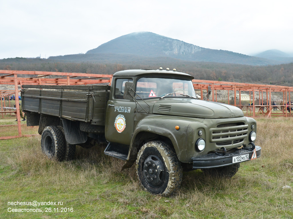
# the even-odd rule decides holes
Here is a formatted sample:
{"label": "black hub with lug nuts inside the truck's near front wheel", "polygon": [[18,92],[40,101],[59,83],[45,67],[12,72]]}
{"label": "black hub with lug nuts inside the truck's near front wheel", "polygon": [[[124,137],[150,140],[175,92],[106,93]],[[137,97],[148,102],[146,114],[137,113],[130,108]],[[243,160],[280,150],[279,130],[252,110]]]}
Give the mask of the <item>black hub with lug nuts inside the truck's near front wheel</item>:
{"label": "black hub with lug nuts inside the truck's near front wheel", "polygon": [[144,160],[144,177],[152,187],[159,187],[164,183],[164,164],[156,155],[149,155]]}

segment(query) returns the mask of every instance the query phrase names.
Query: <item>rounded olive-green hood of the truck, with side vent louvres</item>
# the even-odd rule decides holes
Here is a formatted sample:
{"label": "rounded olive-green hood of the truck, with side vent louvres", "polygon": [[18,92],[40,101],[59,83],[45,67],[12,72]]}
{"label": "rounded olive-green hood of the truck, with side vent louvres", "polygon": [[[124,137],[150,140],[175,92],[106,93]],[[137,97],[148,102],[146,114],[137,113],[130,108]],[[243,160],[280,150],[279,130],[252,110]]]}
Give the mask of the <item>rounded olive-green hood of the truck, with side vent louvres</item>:
{"label": "rounded olive-green hood of the truck, with side vent louvres", "polygon": [[238,107],[191,98],[165,98],[154,101],[153,113],[207,119],[244,116],[242,110]]}

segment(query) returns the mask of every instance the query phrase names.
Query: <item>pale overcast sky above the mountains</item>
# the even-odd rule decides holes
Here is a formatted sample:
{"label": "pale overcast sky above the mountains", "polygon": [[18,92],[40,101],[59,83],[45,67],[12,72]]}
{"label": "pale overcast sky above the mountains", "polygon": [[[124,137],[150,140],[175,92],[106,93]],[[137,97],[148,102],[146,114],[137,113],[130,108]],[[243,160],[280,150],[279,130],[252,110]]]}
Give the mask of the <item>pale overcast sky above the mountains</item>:
{"label": "pale overcast sky above the mountains", "polygon": [[293,54],[292,10],[292,0],[0,0],[0,59],[86,53],[140,31],[246,55]]}

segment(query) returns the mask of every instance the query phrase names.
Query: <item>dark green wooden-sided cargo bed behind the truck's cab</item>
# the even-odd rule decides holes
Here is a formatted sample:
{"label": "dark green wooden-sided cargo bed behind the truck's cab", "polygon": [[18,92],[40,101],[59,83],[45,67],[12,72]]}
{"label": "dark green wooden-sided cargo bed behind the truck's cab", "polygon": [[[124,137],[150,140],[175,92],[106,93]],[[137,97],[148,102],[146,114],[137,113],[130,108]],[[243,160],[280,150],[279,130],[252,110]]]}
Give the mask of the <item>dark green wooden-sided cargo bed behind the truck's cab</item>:
{"label": "dark green wooden-sided cargo bed behind the truck's cab", "polygon": [[109,91],[108,85],[23,85],[22,109],[104,125]]}

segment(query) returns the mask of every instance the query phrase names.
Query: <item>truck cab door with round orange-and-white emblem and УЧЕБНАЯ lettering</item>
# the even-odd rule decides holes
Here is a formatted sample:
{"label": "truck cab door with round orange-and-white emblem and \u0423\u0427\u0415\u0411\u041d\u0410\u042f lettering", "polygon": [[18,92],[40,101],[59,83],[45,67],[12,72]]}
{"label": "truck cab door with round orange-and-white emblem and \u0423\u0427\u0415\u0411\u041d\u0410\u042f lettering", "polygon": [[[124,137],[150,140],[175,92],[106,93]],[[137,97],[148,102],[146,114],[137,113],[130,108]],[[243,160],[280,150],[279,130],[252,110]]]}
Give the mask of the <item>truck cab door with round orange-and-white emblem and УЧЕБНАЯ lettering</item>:
{"label": "truck cab door with round orange-and-white emblem and \u0423\u0427\u0415\u0411\u041d\u0410\u042f lettering", "polygon": [[132,78],[117,78],[111,90],[105,122],[105,137],[109,142],[130,145],[134,131],[135,102],[123,99],[125,82]]}

